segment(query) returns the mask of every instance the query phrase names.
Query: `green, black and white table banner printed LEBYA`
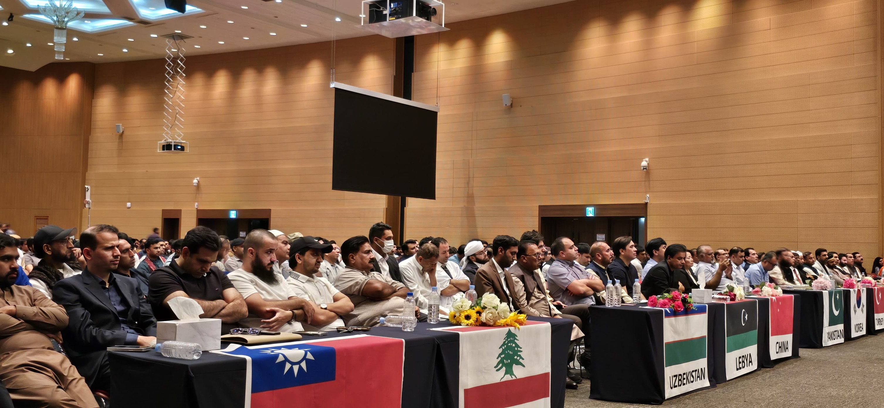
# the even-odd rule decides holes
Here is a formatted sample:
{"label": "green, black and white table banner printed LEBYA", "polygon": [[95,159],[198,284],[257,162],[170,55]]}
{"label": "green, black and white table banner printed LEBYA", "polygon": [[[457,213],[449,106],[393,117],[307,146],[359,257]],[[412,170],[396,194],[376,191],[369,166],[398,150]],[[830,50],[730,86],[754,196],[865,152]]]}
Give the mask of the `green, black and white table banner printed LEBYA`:
{"label": "green, black and white table banner printed LEBYA", "polygon": [[725,373],[728,380],[758,369],[758,300],[725,306]]}

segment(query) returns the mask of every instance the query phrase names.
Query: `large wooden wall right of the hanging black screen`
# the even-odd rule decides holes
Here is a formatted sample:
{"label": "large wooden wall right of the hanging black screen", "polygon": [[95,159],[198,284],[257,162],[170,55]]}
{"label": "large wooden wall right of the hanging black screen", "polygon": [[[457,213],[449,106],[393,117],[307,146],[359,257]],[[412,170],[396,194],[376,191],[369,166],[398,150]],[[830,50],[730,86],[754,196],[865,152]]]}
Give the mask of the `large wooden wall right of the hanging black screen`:
{"label": "large wooden wall right of the hanging black screen", "polygon": [[406,235],[517,235],[539,205],[650,194],[670,243],[880,253],[878,8],[594,0],[420,36],[437,200],[408,200]]}

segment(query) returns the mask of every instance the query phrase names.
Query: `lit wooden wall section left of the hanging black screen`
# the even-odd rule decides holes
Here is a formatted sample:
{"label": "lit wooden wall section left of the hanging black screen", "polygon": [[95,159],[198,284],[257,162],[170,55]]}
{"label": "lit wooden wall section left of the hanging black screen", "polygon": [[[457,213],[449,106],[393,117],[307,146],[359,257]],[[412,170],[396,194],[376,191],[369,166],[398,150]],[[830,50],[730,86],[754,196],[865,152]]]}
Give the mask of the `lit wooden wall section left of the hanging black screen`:
{"label": "lit wooden wall section left of the hanging black screen", "polygon": [[[392,40],[335,47],[337,81],[392,91]],[[156,152],[163,65],[97,66],[87,175],[94,221],[143,237],[161,226],[164,208],[182,209],[182,232],[196,223],[194,203],[201,210],[271,208],[273,229],[341,241],[383,219],[385,196],[331,191],[331,43],[187,57],[187,154]],[[118,123],[123,135],[114,132]]]}

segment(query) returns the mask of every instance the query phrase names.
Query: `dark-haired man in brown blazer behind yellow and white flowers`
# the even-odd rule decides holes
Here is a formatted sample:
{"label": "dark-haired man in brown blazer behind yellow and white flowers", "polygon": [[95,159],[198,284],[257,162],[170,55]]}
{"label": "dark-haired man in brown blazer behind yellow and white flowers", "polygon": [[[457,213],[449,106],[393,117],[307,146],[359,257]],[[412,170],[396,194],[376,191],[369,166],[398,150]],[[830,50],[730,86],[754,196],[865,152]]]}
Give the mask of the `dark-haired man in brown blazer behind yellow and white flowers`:
{"label": "dark-haired man in brown blazer behind yellow and white flowers", "polygon": [[515,253],[519,252],[519,241],[508,235],[494,237],[492,252],[492,260],[476,270],[476,294],[482,298],[485,293],[493,293],[501,303],[506,302],[509,309],[515,312],[512,298],[515,283],[513,276],[507,273],[507,268],[513,264]]}

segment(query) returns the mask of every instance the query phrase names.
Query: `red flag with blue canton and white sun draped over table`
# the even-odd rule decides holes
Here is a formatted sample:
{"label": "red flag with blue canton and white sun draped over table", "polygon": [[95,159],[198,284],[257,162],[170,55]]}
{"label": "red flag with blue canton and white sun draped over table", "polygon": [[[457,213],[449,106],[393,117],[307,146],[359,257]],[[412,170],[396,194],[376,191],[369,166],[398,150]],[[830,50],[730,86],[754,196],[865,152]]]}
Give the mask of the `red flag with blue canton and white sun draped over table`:
{"label": "red flag with blue canton and white sun draped over table", "polygon": [[[349,336],[213,351],[247,360],[245,408],[400,406],[405,340]],[[363,375],[370,369],[371,375]]]}

